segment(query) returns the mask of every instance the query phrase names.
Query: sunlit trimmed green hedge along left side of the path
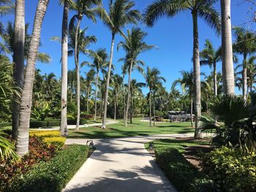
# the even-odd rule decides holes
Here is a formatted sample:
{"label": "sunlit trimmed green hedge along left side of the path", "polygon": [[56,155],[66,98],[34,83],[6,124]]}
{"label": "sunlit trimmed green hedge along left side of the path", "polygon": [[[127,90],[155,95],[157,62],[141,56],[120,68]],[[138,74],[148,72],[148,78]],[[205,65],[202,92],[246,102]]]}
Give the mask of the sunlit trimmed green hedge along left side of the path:
{"label": "sunlit trimmed green hedge along left side of the path", "polygon": [[86,161],[88,151],[84,145],[71,145],[50,161],[39,163],[26,174],[13,178],[5,191],[61,191]]}

